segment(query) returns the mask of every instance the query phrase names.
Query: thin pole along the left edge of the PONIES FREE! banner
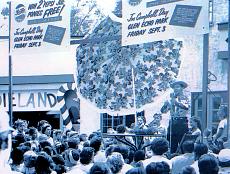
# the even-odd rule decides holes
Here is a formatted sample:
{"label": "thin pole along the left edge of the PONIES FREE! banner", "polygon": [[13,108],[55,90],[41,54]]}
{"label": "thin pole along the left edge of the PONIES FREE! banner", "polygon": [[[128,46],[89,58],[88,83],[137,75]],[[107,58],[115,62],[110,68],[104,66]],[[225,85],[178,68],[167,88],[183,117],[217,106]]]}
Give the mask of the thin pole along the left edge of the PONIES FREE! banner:
{"label": "thin pole along the left edge of the PONIES FREE! banner", "polygon": [[12,105],[12,86],[13,86],[13,79],[12,79],[12,56],[11,56],[11,2],[8,2],[9,4],[9,94],[8,94],[8,100],[9,100],[9,116],[10,116],[10,125],[13,125],[13,105]]}

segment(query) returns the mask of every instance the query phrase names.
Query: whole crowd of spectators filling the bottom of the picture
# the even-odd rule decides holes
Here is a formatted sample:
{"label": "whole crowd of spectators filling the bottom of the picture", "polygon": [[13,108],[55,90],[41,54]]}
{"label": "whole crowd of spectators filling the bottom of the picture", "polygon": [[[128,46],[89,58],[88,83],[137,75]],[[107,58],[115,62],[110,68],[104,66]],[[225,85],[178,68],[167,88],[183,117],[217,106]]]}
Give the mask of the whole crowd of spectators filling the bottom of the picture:
{"label": "whole crowd of spectators filling the bottom of the picture", "polygon": [[[103,137],[100,131],[87,135],[73,130],[54,130],[46,120],[41,120],[37,127],[29,127],[25,120],[19,119],[12,129],[6,117],[7,113],[1,113],[0,173],[227,174],[230,172],[230,149],[210,148],[210,144],[199,140],[185,140],[181,144],[181,152],[174,154],[169,153],[169,142],[165,137],[151,139],[148,148],[133,150],[114,137]],[[194,132],[200,134],[197,130],[199,125],[195,124],[194,120],[191,122],[196,125]],[[124,130],[125,126],[119,125],[113,133]],[[129,141],[135,142],[134,139]]]}

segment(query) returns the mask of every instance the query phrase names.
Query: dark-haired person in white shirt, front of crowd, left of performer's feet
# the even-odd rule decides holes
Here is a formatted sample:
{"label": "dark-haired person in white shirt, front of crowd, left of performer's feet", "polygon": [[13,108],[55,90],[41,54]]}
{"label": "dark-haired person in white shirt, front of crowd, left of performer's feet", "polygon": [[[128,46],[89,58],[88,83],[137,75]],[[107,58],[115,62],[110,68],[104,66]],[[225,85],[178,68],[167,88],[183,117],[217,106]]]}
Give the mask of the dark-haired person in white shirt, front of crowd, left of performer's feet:
{"label": "dark-haired person in white shirt, front of crowd, left of performer's feet", "polygon": [[143,161],[143,166],[146,168],[151,162],[162,162],[165,161],[172,168],[172,163],[167,159],[164,154],[168,151],[169,143],[165,138],[155,138],[153,139],[150,149],[153,152],[153,156],[149,159]]}

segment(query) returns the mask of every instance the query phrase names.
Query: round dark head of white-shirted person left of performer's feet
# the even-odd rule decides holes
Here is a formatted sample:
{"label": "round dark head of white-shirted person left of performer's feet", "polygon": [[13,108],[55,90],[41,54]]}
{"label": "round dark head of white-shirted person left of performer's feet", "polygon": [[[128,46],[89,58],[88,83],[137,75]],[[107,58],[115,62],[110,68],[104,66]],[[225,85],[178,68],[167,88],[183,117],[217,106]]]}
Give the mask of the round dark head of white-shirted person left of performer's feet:
{"label": "round dark head of white-shirted person left of performer's feet", "polygon": [[165,138],[155,138],[151,143],[151,150],[155,155],[163,155],[168,151],[169,143]]}

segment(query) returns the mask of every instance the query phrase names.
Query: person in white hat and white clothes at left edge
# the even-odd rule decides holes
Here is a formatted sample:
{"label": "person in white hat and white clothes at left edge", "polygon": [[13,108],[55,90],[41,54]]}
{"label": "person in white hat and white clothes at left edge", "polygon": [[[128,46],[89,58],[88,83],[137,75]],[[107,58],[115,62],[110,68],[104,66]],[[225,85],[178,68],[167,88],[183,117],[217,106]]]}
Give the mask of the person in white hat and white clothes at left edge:
{"label": "person in white hat and white clothes at left edge", "polygon": [[14,131],[9,125],[9,115],[0,109],[0,173],[19,173],[11,171],[9,165],[11,153],[11,132]]}

